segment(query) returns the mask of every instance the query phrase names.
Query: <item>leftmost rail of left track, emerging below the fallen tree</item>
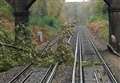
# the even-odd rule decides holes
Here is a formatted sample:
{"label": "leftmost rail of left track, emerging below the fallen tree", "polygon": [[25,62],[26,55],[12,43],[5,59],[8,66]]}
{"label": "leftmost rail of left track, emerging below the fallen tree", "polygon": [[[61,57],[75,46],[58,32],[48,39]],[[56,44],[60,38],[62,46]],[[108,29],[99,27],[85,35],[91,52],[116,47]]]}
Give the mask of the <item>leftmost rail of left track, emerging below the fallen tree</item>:
{"label": "leftmost rail of left track, emerging below the fallen tree", "polygon": [[14,83],[22,74],[24,74],[30,67],[32,63],[26,66],[20,73],[18,73],[15,77],[13,77],[8,83]]}

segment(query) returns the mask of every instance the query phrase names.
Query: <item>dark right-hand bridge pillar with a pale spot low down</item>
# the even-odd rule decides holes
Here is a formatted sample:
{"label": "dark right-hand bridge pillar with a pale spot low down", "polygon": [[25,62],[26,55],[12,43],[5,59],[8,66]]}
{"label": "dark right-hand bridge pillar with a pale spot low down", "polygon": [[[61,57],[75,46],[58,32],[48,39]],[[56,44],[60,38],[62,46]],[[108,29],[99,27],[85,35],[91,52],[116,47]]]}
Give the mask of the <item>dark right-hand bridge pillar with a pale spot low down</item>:
{"label": "dark right-hand bridge pillar with a pale spot low down", "polygon": [[109,44],[120,52],[120,0],[104,0],[109,12]]}

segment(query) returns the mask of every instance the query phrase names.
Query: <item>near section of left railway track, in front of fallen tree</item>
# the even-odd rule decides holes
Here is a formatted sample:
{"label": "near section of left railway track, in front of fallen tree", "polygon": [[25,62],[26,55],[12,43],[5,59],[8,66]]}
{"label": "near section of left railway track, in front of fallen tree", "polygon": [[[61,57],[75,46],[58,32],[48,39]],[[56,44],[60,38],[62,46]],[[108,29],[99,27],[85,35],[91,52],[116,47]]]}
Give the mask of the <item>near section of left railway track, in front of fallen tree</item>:
{"label": "near section of left railway track, in front of fallen tree", "polygon": [[[36,72],[32,70],[32,64],[30,64],[26,66],[18,75],[13,77],[13,79],[11,79],[8,83],[51,83],[58,68],[58,64],[59,63],[50,65],[50,67],[44,72]],[[32,78],[34,74],[38,77]]]}

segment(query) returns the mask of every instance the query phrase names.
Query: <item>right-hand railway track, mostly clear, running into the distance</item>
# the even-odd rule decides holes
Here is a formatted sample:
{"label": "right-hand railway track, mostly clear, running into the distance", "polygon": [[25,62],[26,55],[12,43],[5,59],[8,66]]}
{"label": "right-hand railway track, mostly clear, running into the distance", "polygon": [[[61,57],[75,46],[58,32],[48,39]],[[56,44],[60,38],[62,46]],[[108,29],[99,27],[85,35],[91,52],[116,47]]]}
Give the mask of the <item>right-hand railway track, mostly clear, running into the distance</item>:
{"label": "right-hand railway track, mostly clear, running into the distance", "polygon": [[[89,63],[90,60],[92,63],[85,66],[84,62]],[[99,64],[94,64],[96,61]],[[84,28],[80,28],[77,34],[72,83],[118,83]]]}

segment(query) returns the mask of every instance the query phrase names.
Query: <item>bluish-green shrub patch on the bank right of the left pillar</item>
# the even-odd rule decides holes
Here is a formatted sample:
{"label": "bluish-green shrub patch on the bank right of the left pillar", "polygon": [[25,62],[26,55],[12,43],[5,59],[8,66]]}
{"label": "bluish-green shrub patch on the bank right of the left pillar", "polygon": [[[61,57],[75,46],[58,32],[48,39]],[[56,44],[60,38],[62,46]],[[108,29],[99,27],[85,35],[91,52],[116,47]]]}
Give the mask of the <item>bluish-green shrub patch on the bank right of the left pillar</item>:
{"label": "bluish-green shrub patch on the bank right of the left pillar", "polygon": [[30,17],[30,25],[37,25],[37,26],[48,26],[52,28],[59,28],[60,22],[57,18],[52,16],[31,16]]}

